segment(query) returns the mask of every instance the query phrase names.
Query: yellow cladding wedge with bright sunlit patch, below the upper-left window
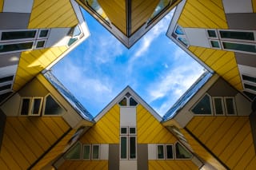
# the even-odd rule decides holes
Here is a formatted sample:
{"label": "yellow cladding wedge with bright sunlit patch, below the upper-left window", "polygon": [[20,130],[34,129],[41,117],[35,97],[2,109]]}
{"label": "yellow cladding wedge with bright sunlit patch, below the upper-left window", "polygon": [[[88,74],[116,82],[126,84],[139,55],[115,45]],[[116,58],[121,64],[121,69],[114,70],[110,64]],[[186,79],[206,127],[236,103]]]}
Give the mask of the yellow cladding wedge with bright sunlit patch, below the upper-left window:
{"label": "yellow cladding wedge with bright sunlit patch, below the upper-left window", "polygon": [[66,49],[66,46],[60,46],[22,52],[14,81],[14,91],[20,89],[46,66],[60,57]]}

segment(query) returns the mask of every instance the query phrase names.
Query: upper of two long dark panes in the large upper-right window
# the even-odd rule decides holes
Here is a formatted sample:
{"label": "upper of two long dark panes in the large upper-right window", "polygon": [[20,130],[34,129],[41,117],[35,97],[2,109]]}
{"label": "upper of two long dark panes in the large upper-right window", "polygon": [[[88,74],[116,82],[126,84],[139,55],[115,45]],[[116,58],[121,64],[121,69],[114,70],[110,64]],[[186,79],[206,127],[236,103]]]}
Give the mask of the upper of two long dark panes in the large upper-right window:
{"label": "upper of two long dark panes in the large upper-right window", "polygon": [[221,38],[239,39],[239,40],[254,40],[253,32],[242,31],[219,31]]}

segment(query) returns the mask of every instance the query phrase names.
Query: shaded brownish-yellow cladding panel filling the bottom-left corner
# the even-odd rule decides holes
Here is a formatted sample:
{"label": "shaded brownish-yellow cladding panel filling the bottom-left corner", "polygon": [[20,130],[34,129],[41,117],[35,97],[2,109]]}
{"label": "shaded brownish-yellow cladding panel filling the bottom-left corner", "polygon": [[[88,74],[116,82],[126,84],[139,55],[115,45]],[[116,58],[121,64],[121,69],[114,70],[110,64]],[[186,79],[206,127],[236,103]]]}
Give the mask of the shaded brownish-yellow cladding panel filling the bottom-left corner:
{"label": "shaded brownish-yellow cladding panel filling the bottom-left corner", "polygon": [[0,164],[29,168],[68,128],[62,117],[7,117]]}

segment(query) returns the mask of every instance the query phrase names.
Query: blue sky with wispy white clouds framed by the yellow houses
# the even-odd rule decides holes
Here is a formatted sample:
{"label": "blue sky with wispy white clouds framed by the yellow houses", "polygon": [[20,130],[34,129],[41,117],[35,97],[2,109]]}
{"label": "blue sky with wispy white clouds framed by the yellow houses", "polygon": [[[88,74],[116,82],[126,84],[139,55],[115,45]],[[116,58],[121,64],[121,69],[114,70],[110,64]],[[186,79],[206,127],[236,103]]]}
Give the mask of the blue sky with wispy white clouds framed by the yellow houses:
{"label": "blue sky with wispy white clouds framed by the yellow houses", "polygon": [[54,75],[93,116],[127,85],[162,116],[204,72],[166,37],[173,12],[126,49],[82,10],[90,37],[54,65]]}

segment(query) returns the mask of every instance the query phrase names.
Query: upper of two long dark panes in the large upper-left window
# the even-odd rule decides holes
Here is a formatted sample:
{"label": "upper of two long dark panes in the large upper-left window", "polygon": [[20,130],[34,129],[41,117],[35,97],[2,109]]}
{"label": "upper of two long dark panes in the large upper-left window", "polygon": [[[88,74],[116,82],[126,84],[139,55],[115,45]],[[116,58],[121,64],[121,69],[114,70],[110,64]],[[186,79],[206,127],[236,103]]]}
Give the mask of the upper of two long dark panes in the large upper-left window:
{"label": "upper of two long dark panes in the large upper-left window", "polygon": [[15,39],[25,39],[34,38],[36,30],[25,30],[25,31],[12,31],[12,32],[2,32],[2,40],[15,40]]}

